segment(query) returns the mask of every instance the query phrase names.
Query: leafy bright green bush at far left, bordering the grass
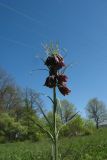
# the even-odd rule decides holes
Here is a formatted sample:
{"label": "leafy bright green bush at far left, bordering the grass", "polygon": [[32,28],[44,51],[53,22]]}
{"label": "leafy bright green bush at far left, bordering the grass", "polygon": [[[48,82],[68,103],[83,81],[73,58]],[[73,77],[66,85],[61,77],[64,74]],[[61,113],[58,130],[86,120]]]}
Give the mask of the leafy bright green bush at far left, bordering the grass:
{"label": "leafy bright green bush at far left, bordering the grass", "polygon": [[12,141],[23,135],[26,135],[26,126],[16,122],[8,113],[0,113],[0,137],[4,136],[5,140]]}

